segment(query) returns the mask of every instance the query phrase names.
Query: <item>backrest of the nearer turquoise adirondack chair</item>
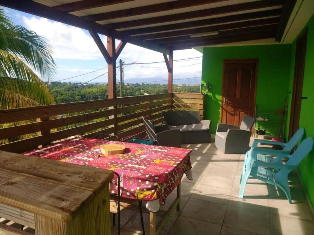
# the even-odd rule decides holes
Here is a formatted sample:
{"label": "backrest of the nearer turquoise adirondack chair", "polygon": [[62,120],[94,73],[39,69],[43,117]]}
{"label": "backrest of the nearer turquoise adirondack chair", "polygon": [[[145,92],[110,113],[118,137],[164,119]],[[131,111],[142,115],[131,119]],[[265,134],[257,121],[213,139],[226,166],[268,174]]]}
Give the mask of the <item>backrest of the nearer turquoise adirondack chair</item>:
{"label": "backrest of the nearer turquoise adirondack chair", "polygon": [[[295,152],[291,155],[289,160],[286,162],[286,165],[297,166],[300,162],[306,157],[307,154],[311,152],[313,149],[313,138],[308,137],[302,141],[300,146],[295,150]],[[291,170],[283,169],[278,172],[278,174],[289,174]]]}

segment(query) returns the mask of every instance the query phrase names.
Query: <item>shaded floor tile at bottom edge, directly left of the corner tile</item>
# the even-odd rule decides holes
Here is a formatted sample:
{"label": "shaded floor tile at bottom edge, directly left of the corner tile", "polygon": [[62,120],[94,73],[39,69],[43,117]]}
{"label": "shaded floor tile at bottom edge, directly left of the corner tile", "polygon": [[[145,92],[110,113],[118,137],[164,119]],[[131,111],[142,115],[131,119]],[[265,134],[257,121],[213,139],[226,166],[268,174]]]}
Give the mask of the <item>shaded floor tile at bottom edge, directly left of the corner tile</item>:
{"label": "shaded floor tile at bottom edge, directly left of the corner tile", "polygon": [[270,234],[269,213],[235,206],[228,206],[224,226],[241,230]]}

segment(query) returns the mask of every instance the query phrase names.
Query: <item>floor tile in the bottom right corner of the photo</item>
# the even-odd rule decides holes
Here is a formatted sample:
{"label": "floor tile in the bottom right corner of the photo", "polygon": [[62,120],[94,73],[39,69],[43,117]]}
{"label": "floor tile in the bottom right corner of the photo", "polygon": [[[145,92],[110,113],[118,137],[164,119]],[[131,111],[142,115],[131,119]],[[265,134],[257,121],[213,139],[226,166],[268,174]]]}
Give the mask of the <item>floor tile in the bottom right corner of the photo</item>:
{"label": "floor tile in the bottom right corner of the photo", "polygon": [[287,216],[270,215],[272,235],[312,235],[314,222]]}

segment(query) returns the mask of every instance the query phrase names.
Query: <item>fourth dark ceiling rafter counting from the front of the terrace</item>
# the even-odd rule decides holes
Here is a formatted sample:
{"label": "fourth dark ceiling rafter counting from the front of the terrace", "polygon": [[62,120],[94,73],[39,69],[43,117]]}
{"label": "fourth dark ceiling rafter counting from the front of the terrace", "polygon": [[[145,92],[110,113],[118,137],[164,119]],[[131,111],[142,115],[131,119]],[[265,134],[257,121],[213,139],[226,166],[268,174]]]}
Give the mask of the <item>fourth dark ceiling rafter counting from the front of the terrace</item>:
{"label": "fourth dark ceiling rafter counting from the front of the terrace", "polygon": [[183,23],[177,23],[177,24],[167,24],[167,25],[140,28],[140,29],[130,29],[130,30],[124,30],[123,32],[130,35],[148,34],[148,33],[156,33],[156,32],[161,32],[161,31],[171,31],[171,30],[188,29],[188,28],[194,28],[194,27],[203,27],[203,26],[209,26],[212,24],[225,24],[225,23],[232,23],[235,21],[253,20],[253,19],[258,19],[258,18],[276,17],[276,16],[279,17],[280,14],[281,14],[281,9],[274,9],[274,10],[244,13],[244,14],[223,16],[223,17],[196,20],[196,21],[190,21],[190,22],[183,22]]}

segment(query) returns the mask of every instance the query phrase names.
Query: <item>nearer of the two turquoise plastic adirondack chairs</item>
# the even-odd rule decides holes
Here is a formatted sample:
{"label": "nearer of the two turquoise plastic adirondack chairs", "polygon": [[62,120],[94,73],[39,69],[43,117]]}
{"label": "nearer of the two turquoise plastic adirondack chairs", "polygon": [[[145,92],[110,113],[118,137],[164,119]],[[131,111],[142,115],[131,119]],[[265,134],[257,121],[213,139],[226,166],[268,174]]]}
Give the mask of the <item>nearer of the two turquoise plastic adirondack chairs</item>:
{"label": "nearer of the two turquoise plastic adirondack chairs", "polygon": [[[240,187],[239,197],[243,198],[246,182],[251,175],[255,179],[262,180],[263,182],[276,185],[281,188],[287,196],[289,203],[291,204],[288,174],[292,170],[297,169],[299,163],[307,154],[311,152],[312,149],[313,138],[309,137],[302,141],[300,146],[292,155],[283,152],[276,153],[276,156],[280,157],[281,159],[284,157],[289,158],[286,164],[283,164],[282,161],[279,163],[264,162],[249,156],[246,164],[242,169],[243,179]],[[257,152],[259,150],[253,149],[253,155],[255,154],[255,151]]]}

